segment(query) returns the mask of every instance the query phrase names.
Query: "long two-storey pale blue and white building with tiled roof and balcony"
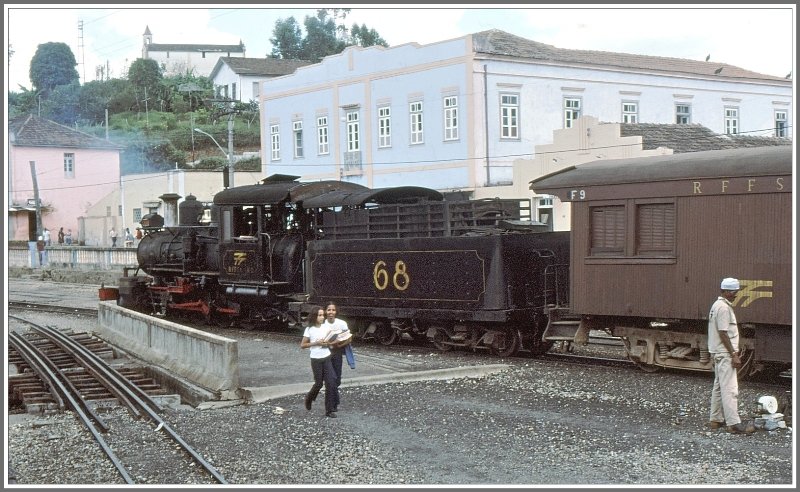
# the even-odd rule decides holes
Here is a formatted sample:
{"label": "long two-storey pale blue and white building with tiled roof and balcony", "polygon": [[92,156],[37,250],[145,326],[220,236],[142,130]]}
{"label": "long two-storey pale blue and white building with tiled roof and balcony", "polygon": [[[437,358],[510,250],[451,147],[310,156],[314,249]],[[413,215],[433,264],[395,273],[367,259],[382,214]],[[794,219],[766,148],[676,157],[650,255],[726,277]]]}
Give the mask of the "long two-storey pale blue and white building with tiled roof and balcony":
{"label": "long two-storey pale blue and white building with tiled roof and balcony", "polygon": [[265,175],[497,196],[582,115],[792,136],[792,80],[715,62],[568,50],[500,30],[350,47],[263,82]]}

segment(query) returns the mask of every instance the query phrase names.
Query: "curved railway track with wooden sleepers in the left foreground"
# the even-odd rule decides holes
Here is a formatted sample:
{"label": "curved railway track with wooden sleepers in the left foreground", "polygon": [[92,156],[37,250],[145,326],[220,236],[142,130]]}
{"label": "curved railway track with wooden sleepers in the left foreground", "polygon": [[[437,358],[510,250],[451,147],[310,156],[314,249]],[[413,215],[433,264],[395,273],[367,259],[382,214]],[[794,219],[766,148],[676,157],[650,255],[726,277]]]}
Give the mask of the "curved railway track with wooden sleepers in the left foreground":
{"label": "curved railway track with wooden sleepers in the left foreground", "polygon": [[[53,407],[70,410],[78,416],[125,483],[137,483],[134,476],[146,477],[147,471],[132,474],[130,469],[136,468],[138,456],[131,456],[129,453],[121,458],[113,448],[136,449],[141,448],[142,443],[150,445],[136,454],[159,453],[164,459],[158,461],[169,467],[173,475],[199,473],[205,477],[180,483],[227,483],[225,477],[164,420],[162,408],[147,391],[107,364],[95,351],[87,348],[86,344],[56,328],[13,315],[9,317],[29,326],[36,335],[25,337],[15,331],[9,333],[9,344],[15,351],[15,358],[18,356],[23,361],[20,364],[23,366],[22,373],[31,371],[42,381],[43,387],[52,397],[51,410],[54,410]],[[53,350],[53,345],[58,349]],[[79,378],[75,377],[74,369],[77,366],[83,368]],[[88,377],[93,382],[87,382]],[[89,404],[89,400],[97,395],[98,385],[126,407],[129,417],[123,429],[117,430],[116,426],[126,423],[126,419],[117,417],[115,426],[111,426],[100,416],[97,408]],[[142,426],[141,423],[146,425]],[[134,427],[139,430],[132,432]],[[152,442],[154,435],[163,437],[160,444]],[[110,442],[114,443],[113,447]],[[179,457],[166,451],[175,446],[181,450]],[[128,462],[127,466],[124,461]],[[153,460],[148,459],[146,462],[147,466],[152,466]]]}

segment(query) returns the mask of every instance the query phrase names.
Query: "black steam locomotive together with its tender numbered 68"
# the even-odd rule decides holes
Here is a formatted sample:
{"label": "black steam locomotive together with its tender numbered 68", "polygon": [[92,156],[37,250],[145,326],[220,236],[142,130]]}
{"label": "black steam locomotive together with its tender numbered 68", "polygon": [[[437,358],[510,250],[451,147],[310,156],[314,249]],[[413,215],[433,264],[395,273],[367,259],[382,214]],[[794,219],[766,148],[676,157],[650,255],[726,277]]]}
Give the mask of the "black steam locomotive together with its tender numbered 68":
{"label": "black steam locomotive together with its tender numbered 68", "polygon": [[283,175],[221,191],[208,210],[190,195],[177,225],[142,218],[147,275],[121,278],[119,303],[282,327],[330,300],[384,344],[541,353],[546,308],[566,301],[569,235],[522,220],[524,203]]}

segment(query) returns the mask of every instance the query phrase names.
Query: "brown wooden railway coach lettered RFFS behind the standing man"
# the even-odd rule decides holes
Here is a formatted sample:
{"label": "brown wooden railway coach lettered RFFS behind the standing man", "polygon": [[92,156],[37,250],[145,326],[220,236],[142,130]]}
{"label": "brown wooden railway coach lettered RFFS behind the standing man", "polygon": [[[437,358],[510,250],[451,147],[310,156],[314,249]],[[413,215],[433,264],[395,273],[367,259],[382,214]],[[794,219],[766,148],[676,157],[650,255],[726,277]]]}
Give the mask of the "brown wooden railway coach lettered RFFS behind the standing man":
{"label": "brown wooden railway coach lettered RFFS behind the standing man", "polygon": [[573,336],[606,329],[644,369],[711,370],[708,310],[736,277],[740,374],[792,362],[790,146],[593,162],[531,189],[572,206]]}

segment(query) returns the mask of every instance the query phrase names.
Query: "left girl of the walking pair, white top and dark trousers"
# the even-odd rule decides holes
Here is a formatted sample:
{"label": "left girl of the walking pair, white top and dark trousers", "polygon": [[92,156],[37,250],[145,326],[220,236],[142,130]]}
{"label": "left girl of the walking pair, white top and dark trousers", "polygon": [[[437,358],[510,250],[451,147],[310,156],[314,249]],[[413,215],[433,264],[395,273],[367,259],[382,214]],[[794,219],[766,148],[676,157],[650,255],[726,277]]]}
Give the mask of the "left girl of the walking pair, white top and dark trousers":
{"label": "left girl of the walking pair, white top and dark trousers", "polygon": [[311,403],[317,399],[323,383],[325,384],[325,416],[336,417],[336,403],[339,390],[336,387],[336,371],[331,363],[331,351],[325,337],[330,329],[323,325],[325,310],[314,306],[308,314],[308,325],[300,341],[300,348],[311,349],[311,372],[314,374],[314,385],[306,395],[306,410],[311,410]]}

